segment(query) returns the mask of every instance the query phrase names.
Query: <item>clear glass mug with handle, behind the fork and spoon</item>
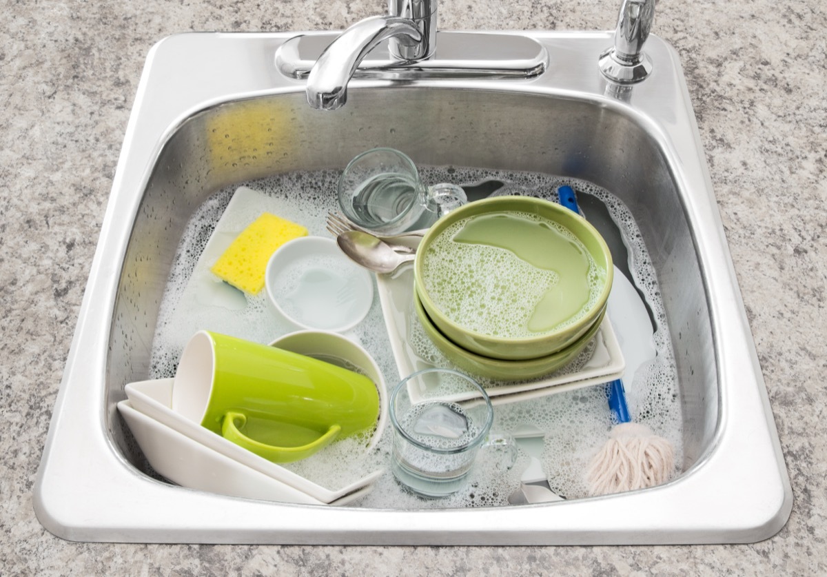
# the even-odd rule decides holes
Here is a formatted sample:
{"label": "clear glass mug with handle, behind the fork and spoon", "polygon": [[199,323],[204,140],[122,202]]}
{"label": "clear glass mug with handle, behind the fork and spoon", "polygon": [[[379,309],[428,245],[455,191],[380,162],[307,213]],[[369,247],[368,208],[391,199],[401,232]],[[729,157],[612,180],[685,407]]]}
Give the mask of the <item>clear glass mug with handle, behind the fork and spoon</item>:
{"label": "clear glass mug with handle, behind the fork and spoon", "polygon": [[351,160],[337,195],[351,222],[382,235],[428,228],[468,202],[456,184],[423,184],[414,161],[393,148],[366,150]]}

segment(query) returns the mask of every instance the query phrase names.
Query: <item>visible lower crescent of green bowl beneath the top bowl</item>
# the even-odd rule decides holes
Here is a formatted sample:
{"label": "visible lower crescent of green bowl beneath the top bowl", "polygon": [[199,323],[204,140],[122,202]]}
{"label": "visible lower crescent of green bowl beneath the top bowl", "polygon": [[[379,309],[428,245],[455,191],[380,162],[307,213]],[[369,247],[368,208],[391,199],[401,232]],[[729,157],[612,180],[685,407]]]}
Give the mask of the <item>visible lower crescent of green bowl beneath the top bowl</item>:
{"label": "visible lower crescent of green bowl beneath the top bowl", "polygon": [[414,295],[414,308],[416,308],[419,322],[431,339],[433,344],[439,349],[443,355],[447,357],[454,365],[466,373],[477,377],[486,377],[488,379],[496,379],[502,381],[515,381],[536,379],[542,377],[544,374],[549,374],[557,369],[571,363],[575,360],[581,350],[591,341],[592,337],[600,328],[600,322],[605,316],[605,308],[596,322],[591,326],[586,334],[581,336],[578,341],[575,341],[571,346],[548,356],[543,356],[538,359],[528,360],[502,360],[491,359],[487,356],[475,355],[470,350],[465,350],[460,346],[455,345],[443,335],[437,327],[434,327],[433,322],[428,317],[428,312],[422,306],[422,301]]}

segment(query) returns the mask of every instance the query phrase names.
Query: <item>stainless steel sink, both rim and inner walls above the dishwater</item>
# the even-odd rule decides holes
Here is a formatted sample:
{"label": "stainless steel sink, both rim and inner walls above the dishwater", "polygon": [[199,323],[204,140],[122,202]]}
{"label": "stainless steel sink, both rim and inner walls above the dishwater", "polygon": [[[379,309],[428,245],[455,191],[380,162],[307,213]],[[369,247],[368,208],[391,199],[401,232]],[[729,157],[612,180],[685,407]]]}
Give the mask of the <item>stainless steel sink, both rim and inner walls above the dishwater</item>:
{"label": "stainless steel sink, both rim and inner walls above the dishwater", "polygon": [[[450,34],[450,33],[447,33]],[[676,53],[619,88],[600,74],[608,32],[524,32],[547,50],[532,79],[353,80],[320,112],[274,65],[294,34],[184,34],[151,50],[117,165],[35,487],[37,517],[76,541],[627,544],[759,541],[791,489]],[[148,378],[184,227],[234,184],[341,170],[375,145],[423,165],[589,181],[629,208],[674,349],[680,474],[624,494],[400,512],[231,498],[153,474],[116,403]],[[391,381],[392,382],[392,381]]]}

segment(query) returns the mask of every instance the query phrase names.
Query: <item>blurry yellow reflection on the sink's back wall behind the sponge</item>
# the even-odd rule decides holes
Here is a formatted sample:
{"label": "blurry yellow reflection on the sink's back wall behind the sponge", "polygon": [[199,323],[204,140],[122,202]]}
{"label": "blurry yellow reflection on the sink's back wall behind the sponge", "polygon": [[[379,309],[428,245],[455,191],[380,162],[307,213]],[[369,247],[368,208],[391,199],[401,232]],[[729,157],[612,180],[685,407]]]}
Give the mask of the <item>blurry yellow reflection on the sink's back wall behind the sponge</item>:
{"label": "blurry yellow reflection on the sink's back wall behind the sponge", "polygon": [[206,122],[213,167],[256,165],[294,141],[289,103],[254,99],[228,103],[209,112]]}

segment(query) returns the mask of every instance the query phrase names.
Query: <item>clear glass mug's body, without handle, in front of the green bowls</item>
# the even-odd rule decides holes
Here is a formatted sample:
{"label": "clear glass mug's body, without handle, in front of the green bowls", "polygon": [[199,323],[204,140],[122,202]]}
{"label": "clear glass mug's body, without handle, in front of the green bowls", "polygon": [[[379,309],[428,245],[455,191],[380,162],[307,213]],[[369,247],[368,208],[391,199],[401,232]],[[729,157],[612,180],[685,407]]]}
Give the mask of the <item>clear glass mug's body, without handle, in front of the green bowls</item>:
{"label": "clear glass mug's body, without handle, in front of the green bowls", "polygon": [[485,389],[449,369],[403,379],[390,395],[392,470],[414,493],[444,497],[461,489],[494,421]]}

